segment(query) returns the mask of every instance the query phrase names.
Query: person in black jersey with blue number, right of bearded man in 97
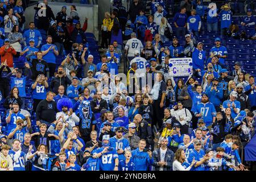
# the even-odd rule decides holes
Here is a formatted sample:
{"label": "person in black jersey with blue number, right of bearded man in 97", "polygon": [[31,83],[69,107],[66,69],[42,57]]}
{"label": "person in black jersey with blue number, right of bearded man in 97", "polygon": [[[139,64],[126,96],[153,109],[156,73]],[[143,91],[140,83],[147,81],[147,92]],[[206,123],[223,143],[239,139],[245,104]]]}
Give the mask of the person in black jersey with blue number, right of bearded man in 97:
{"label": "person in black jersey with blue number, right of bearded man in 97", "polygon": [[216,115],[217,121],[215,121],[212,125],[212,129],[210,130],[210,134],[213,135],[213,150],[216,150],[217,147],[220,147],[221,142],[223,142],[225,137],[225,119],[222,117],[222,113],[218,112]]}

